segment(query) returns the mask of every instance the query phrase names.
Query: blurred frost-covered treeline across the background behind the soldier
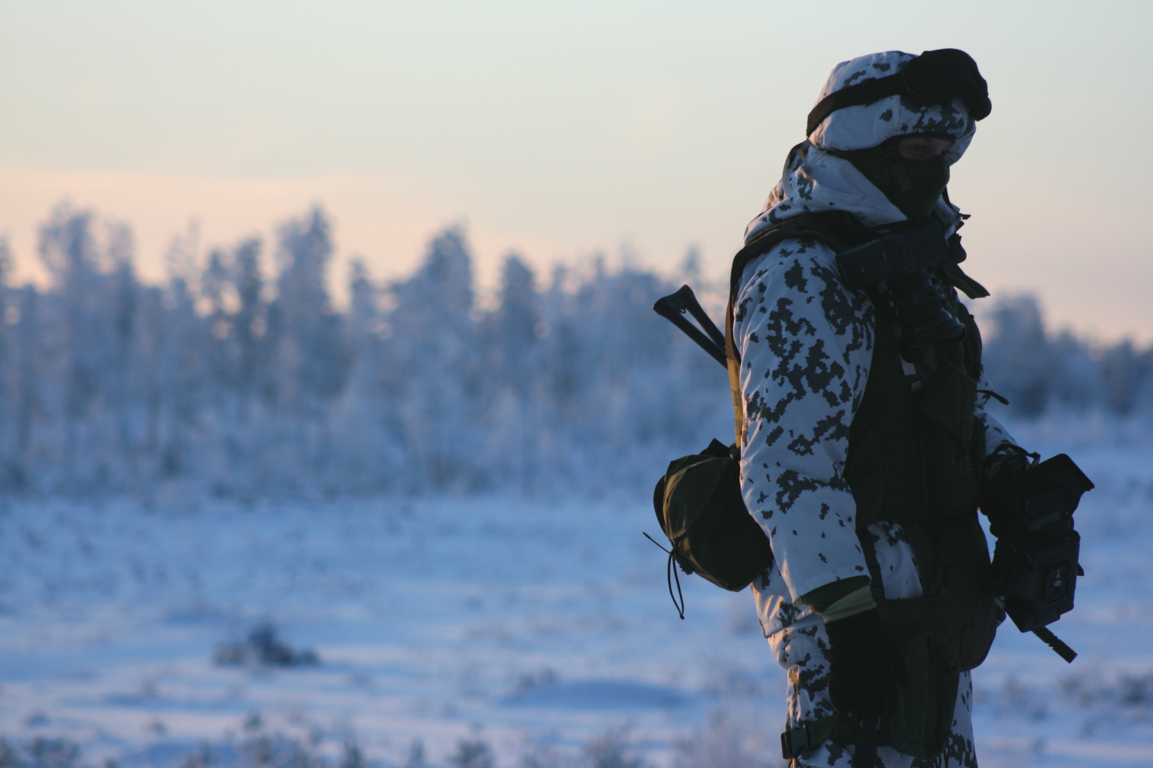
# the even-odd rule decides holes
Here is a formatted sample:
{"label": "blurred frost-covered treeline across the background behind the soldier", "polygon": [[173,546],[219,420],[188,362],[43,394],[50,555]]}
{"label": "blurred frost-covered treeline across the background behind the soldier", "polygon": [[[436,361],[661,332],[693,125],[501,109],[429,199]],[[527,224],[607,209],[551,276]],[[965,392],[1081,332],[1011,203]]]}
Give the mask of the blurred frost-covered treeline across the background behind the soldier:
{"label": "blurred frost-covered treeline across the background behind the soldier", "polygon": [[[406,280],[354,261],[340,312],[322,211],[279,228],[274,274],[264,248],[202,257],[178,238],[166,284],[144,284],[127,228],[60,207],[40,229],[46,290],[9,286],[0,259],[0,492],[642,488],[731,440],[725,372],[649,309],[701,287],[691,260],[671,280],[597,261],[542,284],[511,254],[478,302],[450,228]],[[1028,297],[986,317],[1010,413],[1153,406],[1153,351],[1049,334]]]}

